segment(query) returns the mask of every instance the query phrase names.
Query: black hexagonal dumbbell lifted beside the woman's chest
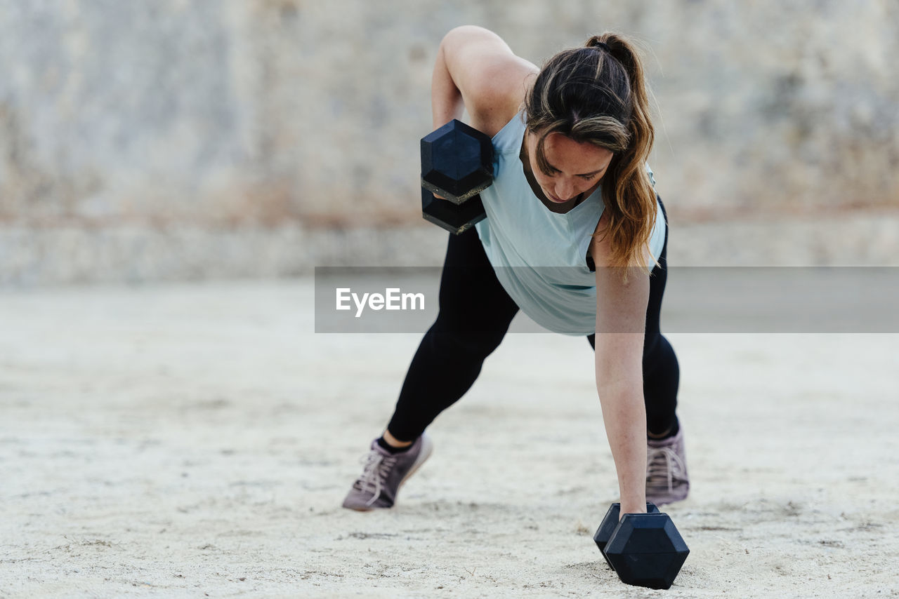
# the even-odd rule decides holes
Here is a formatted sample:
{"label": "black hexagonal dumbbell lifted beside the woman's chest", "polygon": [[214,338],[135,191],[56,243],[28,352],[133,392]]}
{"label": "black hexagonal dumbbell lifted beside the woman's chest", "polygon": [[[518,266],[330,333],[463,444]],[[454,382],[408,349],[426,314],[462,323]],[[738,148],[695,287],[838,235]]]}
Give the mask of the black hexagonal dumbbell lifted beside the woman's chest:
{"label": "black hexagonal dumbbell lifted beside the woman's chest", "polygon": [[[486,216],[479,194],[494,181],[490,137],[453,119],[422,138],[422,216],[463,233]],[[441,196],[434,198],[433,194]]]}

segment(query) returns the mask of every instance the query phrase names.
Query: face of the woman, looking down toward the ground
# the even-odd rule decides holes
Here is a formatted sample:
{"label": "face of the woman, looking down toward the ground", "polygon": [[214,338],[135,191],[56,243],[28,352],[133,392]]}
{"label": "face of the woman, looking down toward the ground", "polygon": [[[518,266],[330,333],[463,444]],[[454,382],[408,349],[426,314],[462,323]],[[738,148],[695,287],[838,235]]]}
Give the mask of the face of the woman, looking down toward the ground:
{"label": "face of the woman, looking down toward the ground", "polygon": [[534,179],[547,199],[556,203],[566,202],[582,193],[592,193],[599,187],[613,155],[604,147],[578,143],[560,133],[550,133],[543,144],[547,163],[553,167],[547,174],[537,164],[537,135],[529,133],[526,143]]}

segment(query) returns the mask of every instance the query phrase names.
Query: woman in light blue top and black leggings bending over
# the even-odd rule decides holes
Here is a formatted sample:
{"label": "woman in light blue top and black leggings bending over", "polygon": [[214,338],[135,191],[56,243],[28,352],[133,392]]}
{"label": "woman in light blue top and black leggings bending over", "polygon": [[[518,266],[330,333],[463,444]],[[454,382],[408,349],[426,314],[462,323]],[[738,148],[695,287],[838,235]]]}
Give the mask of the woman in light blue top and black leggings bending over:
{"label": "woman in light blue top and black leggings bending over", "polygon": [[492,31],[459,27],[434,66],[434,128],[463,110],[493,137],[487,218],[450,235],[440,313],[343,507],[394,505],[432,452],[425,427],[475,382],[520,308],[594,347],[621,514],[685,498],[678,363],[659,332],[667,225],[646,166],[654,130],[634,48],[606,33],[538,69]]}

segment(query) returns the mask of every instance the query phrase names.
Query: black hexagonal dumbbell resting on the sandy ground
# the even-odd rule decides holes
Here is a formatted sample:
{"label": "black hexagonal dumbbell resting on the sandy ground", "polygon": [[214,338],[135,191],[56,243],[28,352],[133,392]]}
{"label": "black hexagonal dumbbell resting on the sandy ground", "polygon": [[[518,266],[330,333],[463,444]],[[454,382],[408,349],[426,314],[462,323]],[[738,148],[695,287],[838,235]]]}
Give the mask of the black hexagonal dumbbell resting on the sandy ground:
{"label": "black hexagonal dumbbell resting on the sandy ground", "polygon": [[652,503],[646,514],[625,514],[613,503],[593,541],[621,582],[649,588],[670,588],[690,554],[671,517]]}

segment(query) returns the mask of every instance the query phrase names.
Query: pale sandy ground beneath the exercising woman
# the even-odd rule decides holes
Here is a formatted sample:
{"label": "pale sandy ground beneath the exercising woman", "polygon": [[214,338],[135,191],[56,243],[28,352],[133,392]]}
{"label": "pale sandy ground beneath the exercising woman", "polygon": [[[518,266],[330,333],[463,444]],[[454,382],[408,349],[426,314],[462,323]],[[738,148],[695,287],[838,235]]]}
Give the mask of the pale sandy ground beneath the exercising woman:
{"label": "pale sandy ground beneath the exercising woman", "polygon": [[417,334],[314,334],[309,279],[0,295],[0,597],[899,595],[899,335],[676,334],[692,492],[669,591],[583,339],[510,335],[397,507],[340,503]]}

